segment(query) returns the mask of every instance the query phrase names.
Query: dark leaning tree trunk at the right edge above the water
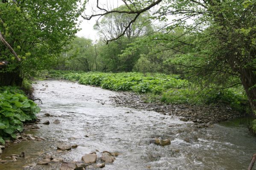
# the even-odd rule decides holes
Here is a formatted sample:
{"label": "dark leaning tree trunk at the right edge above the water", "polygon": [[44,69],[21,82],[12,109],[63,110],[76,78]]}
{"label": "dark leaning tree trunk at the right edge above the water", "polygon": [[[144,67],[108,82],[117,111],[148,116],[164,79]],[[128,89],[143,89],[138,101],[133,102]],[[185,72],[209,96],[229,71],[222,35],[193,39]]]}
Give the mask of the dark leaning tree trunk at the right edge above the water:
{"label": "dark leaning tree trunk at the right edge above the water", "polygon": [[256,75],[253,74],[252,69],[242,68],[241,82],[247,94],[251,109],[256,111],[256,87],[253,87],[253,85],[256,85]]}

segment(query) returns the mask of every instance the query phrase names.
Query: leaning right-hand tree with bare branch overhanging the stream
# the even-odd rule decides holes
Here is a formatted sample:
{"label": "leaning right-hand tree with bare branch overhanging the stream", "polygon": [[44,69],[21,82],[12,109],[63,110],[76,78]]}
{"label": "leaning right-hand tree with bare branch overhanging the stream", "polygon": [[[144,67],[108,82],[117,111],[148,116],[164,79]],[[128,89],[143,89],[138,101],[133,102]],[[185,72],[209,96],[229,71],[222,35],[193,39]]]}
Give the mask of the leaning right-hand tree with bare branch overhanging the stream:
{"label": "leaning right-hand tree with bare branch overhanging the stream", "polygon": [[[256,111],[256,0],[122,1],[136,8],[129,8],[128,11],[109,11],[99,7],[97,3],[97,8],[102,12],[90,17],[85,16],[85,19],[112,13],[135,15],[127,25],[129,27],[143,12],[161,5],[154,12],[153,18],[168,21],[168,17],[171,16],[174,20],[164,27],[165,32],[169,34],[174,28],[182,27],[185,33],[171,40],[161,36],[161,38],[155,37],[153,41],[162,44],[170,42],[188,44],[190,51],[175,56],[183,57],[185,61],[194,61],[191,64],[187,62],[187,65],[181,60],[177,62],[197,73],[193,75],[194,77],[210,77],[208,80],[215,82],[220,80],[224,85],[234,82],[230,81],[230,77],[231,79],[239,77],[239,82],[233,85],[241,83],[244,86],[250,106]],[[127,29],[124,29],[125,31]],[[124,35],[124,32],[118,37]],[[189,43],[182,41],[182,36],[190,37]],[[226,79],[227,77],[229,78]]]}

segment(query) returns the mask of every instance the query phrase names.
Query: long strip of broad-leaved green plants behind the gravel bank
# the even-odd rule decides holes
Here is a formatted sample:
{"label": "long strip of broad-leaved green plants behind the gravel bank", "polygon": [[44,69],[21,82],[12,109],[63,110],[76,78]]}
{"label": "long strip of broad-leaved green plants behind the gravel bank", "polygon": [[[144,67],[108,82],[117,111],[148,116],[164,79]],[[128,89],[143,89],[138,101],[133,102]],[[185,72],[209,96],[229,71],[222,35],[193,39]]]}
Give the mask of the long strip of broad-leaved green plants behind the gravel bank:
{"label": "long strip of broad-leaved green plants behind the gravel bank", "polygon": [[249,110],[247,97],[242,88],[203,89],[180,79],[179,75],[49,71],[41,76],[78,81],[82,85],[95,85],[112,91],[143,93],[148,96],[147,102],[161,101],[166,104],[192,105],[224,104],[241,112]]}

